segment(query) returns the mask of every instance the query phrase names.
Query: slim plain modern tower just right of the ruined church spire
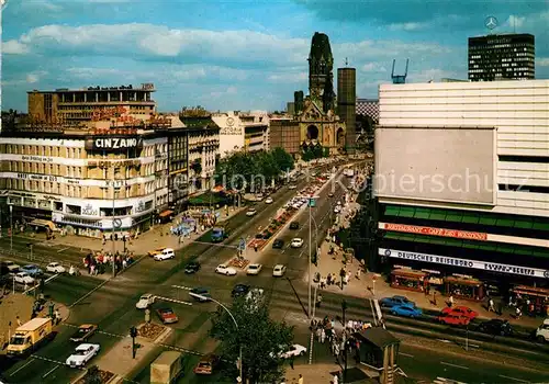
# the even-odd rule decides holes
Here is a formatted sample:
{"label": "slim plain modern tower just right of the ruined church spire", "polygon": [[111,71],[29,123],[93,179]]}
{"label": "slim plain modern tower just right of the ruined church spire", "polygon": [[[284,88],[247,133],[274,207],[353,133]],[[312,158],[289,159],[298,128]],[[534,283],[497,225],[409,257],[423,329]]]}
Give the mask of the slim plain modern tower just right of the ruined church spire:
{"label": "slim plain modern tower just right of the ruined church spire", "polygon": [[337,69],[337,114],[347,126],[345,137],[347,151],[352,151],[357,139],[357,70],[355,68]]}

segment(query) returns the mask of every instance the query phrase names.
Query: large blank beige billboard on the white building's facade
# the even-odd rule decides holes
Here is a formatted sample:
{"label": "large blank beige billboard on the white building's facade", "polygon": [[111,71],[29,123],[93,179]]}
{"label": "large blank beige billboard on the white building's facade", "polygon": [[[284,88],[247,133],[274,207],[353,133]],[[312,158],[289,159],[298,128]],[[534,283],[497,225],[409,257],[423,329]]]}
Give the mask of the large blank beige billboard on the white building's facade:
{"label": "large blank beige billboard on the white building's facade", "polygon": [[380,126],[378,197],[495,205],[493,127]]}

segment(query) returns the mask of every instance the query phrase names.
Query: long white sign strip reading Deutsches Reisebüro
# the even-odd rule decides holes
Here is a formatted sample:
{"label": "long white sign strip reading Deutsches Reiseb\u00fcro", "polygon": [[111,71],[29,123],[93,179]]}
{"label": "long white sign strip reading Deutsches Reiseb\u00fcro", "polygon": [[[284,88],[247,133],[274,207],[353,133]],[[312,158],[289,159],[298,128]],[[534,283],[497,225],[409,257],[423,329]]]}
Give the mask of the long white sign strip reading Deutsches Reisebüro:
{"label": "long white sign strip reading Deutsches Reiseb\u00fcro", "polygon": [[442,264],[451,267],[471,268],[484,271],[501,272],[501,273],[508,273],[523,276],[542,278],[542,279],[549,278],[549,270],[542,270],[529,267],[518,267],[511,264],[501,264],[497,262],[488,262],[480,260],[453,258],[447,256],[408,252],[404,250],[385,249],[385,248],[379,248],[379,255],[389,258],[430,262],[439,266]]}

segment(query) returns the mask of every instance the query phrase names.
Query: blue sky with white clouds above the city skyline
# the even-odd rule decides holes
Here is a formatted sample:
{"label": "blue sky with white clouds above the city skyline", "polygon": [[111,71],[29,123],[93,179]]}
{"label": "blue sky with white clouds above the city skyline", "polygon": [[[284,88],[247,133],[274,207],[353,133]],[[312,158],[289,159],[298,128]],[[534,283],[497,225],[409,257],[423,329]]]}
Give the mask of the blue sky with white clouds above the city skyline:
{"label": "blue sky with white clouds above the city skyline", "polygon": [[8,0],[2,110],[26,91],[154,82],[159,111],[280,110],[307,88],[311,37],[329,36],[335,67],[357,68],[377,98],[410,58],[408,82],[467,78],[467,38],[536,35],[536,77],[549,78],[549,1],[518,0]]}

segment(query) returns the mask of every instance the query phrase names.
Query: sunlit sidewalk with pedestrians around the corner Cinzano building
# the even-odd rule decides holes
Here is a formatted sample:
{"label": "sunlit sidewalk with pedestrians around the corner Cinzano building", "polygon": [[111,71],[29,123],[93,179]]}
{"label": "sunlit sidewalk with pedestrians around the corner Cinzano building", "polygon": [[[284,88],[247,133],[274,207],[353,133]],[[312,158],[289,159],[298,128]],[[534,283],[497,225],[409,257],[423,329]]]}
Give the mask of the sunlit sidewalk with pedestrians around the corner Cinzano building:
{"label": "sunlit sidewalk with pedestrians around the corner Cinzano building", "polygon": [[[240,212],[240,210],[229,207],[228,216],[226,215],[225,208],[216,210],[215,212],[220,213],[220,221],[217,223],[229,219],[235,214]],[[190,235],[190,238],[186,238],[183,242],[180,242],[178,236],[170,235],[170,227],[173,226],[173,223],[178,222],[182,214],[178,215],[176,218],[173,218],[171,223],[157,224],[150,230],[141,234],[137,238],[131,239],[128,242],[126,242],[126,249],[130,250],[131,252],[134,252],[135,255],[144,255],[152,249],[160,247],[168,247],[177,250],[187,246],[189,241],[195,240],[197,238],[202,236],[205,231],[210,230],[210,228],[206,228],[204,231],[192,233]],[[40,239],[40,238],[41,235],[36,235],[34,237],[34,239]],[[101,239],[76,236],[76,235],[56,236],[55,239],[48,240],[48,242],[53,245],[80,248],[82,251],[113,250],[113,242],[111,240],[107,240],[107,242],[103,245]],[[122,240],[117,240],[114,242],[115,242],[114,251],[122,252],[124,248],[124,242]]]}

